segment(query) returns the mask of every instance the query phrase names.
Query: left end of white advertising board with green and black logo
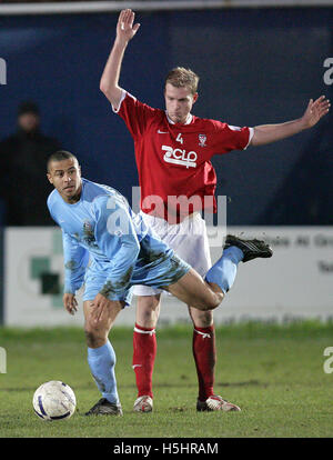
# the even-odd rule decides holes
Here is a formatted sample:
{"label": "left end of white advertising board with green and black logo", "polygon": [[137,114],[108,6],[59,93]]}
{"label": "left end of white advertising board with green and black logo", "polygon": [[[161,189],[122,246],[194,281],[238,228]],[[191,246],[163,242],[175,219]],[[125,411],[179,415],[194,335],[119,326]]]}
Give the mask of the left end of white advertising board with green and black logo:
{"label": "left end of white advertising board with green and black logo", "polygon": [[4,324],[83,323],[82,308],[75,317],[64,311],[62,286],[61,230],[8,228],[4,232]]}

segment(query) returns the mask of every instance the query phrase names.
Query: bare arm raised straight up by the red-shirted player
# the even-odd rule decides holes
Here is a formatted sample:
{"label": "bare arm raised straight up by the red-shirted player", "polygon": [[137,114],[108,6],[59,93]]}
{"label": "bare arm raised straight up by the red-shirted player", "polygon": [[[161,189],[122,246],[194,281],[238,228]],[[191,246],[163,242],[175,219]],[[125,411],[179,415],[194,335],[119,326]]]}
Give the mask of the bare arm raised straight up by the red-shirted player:
{"label": "bare arm raised straight up by the red-shirted player", "polygon": [[123,54],[129,41],[132,40],[140,27],[139,23],[134,24],[134,12],[130,9],[120,12],[115,40],[100,81],[100,90],[114,108],[119,106],[122,96],[122,89],[119,87],[119,77]]}

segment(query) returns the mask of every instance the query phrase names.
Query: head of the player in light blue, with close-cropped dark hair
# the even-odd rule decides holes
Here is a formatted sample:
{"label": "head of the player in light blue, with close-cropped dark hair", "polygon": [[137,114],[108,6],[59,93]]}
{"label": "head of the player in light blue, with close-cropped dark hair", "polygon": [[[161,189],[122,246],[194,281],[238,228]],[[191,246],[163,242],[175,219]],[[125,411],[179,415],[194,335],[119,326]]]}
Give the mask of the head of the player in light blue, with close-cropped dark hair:
{"label": "head of the player in light blue, with close-cropped dark hair", "polygon": [[81,169],[74,158],[52,161],[48,172],[49,181],[68,203],[79,201],[82,188]]}

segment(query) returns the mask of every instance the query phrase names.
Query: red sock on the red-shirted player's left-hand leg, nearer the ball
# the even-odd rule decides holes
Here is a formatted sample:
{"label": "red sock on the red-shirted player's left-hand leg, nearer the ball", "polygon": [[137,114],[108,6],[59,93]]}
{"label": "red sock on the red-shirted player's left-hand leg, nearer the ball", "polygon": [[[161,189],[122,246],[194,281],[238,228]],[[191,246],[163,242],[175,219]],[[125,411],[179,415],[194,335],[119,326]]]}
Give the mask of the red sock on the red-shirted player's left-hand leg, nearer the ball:
{"label": "red sock on the red-shirted player's left-hand leg, nearer the ball", "polygon": [[152,393],[152,373],[157,356],[154,329],[142,328],[135,323],[133,332],[133,369],[135,372],[138,398]]}

